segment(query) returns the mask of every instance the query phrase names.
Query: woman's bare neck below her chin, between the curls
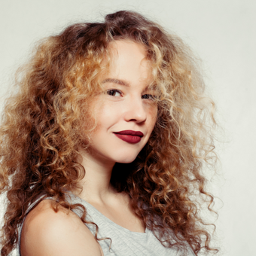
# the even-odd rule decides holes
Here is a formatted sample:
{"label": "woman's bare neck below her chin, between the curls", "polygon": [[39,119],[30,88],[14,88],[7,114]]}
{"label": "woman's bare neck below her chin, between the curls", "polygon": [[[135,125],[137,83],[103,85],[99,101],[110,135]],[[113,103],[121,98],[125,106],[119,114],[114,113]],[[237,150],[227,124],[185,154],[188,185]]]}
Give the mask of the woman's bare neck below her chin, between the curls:
{"label": "woman's bare neck below her chin, between the curls", "polygon": [[97,154],[90,154],[87,151],[80,151],[79,162],[85,169],[84,178],[80,181],[83,188],[79,197],[88,203],[107,202],[114,194],[110,179],[114,162],[102,159]]}

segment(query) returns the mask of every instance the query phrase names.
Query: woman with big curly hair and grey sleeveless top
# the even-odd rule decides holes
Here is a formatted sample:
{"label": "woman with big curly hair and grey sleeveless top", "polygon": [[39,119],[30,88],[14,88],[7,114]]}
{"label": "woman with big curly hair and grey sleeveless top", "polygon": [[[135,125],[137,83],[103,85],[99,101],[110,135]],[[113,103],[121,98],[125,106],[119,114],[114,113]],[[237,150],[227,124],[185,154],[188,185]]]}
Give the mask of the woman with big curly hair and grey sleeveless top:
{"label": "woman with big curly hair and grey sleeveless top", "polygon": [[18,75],[1,128],[2,256],[216,251],[199,215],[213,103],[179,38],[119,11],[44,39]]}

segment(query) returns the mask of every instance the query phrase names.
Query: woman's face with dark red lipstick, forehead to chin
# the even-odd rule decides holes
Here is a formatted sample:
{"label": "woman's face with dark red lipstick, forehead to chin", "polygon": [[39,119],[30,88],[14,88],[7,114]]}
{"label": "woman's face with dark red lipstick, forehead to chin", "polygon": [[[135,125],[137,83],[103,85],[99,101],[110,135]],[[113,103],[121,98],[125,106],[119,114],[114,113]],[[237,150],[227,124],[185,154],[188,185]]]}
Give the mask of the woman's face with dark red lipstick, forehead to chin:
{"label": "woman's face with dark red lipstick, forehead to chin", "polygon": [[110,70],[92,104],[97,126],[90,136],[90,154],[102,163],[131,163],[156,123],[156,93],[148,88],[152,78],[145,48],[126,40],[110,47]]}

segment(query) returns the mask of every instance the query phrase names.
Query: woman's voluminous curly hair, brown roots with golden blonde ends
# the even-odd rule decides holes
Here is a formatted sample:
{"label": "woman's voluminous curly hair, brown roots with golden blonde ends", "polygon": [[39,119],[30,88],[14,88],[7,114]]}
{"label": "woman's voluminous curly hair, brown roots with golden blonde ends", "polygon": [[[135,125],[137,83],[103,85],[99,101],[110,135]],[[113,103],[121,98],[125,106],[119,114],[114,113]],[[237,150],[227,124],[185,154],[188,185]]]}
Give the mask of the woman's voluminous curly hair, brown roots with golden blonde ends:
{"label": "woman's voluminous curly hair, brown roots with golden blonde ends", "polygon": [[[210,247],[212,234],[200,217],[200,203],[212,211],[203,166],[215,159],[215,105],[204,95],[197,58],[157,23],[118,11],[104,23],[78,23],[40,41],[17,72],[17,93],[5,104],[0,128],[0,193],[8,199],[2,256],[17,243],[17,227],[38,194],[53,197],[55,211],[81,206],[65,196],[81,189],[79,181],[86,175],[76,161],[78,148],[90,145],[95,121],[89,106],[114,40],[145,47],[160,97],[147,145],[133,163],[116,163],[111,184],[130,195],[134,212],[164,246],[188,243],[195,254],[218,251]],[[87,223],[83,209],[81,220]]]}

